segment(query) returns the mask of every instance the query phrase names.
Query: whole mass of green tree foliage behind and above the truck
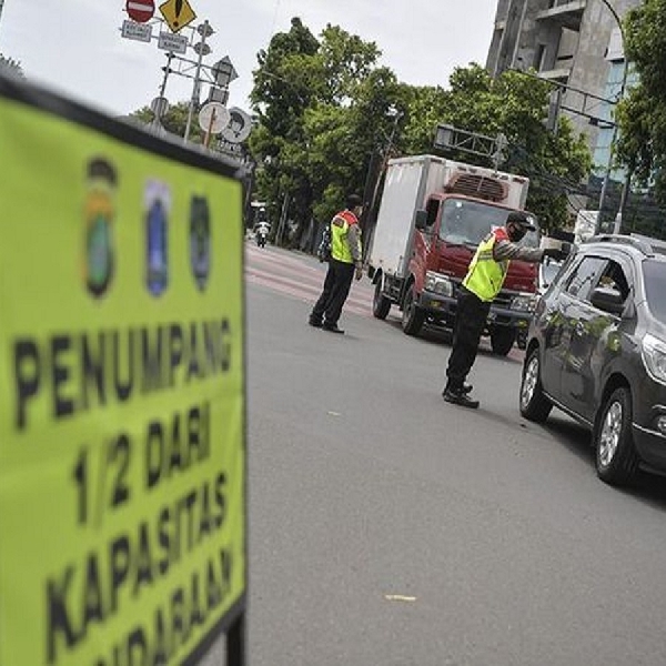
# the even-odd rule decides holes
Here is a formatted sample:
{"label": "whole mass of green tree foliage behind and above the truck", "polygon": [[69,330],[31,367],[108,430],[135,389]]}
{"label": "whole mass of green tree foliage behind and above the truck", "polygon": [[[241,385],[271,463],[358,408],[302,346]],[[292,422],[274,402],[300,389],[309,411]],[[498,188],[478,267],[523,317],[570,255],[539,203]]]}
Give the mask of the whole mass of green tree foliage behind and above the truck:
{"label": "whole mass of green tree foliage behind and above the truck", "polygon": [[566,119],[557,135],[544,128],[547,82],[516,72],[492,79],[472,64],[454,71],[447,90],[413,87],[380,67],[380,56],[374,42],[340,27],[327,26],[317,39],[296,18],[259,53],[251,94],[259,124],[250,148],[258,195],[273,221],[285,201],[301,230],[312,218],[330,219],[345,193],[371,201],[385,160],[432,153],[435,129],[446,123],[490,137],[504,133],[509,150],[501,169],[531,179],[528,206],[544,229],[566,224],[567,194],[592,161],[585,139]]}

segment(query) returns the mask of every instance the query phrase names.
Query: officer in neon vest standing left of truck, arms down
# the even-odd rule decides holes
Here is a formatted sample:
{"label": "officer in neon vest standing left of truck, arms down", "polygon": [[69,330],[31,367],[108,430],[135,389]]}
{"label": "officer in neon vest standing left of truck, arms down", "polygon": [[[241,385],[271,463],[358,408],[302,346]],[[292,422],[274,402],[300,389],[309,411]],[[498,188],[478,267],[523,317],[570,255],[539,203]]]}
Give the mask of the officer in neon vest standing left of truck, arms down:
{"label": "officer in neon vest standing left of truck, arms down", "polygon": [[331,258],[324,287],[310,313],[311,326],[324,329],[331,333],[344,333],[337,326],[342,306],[350,293],[354,275],[363,276],[363,258],[361,253],[361,229],[359,218],[363,212],[363,200],[357,194],[350,194],[346,209],[340,211],[331,220]]}

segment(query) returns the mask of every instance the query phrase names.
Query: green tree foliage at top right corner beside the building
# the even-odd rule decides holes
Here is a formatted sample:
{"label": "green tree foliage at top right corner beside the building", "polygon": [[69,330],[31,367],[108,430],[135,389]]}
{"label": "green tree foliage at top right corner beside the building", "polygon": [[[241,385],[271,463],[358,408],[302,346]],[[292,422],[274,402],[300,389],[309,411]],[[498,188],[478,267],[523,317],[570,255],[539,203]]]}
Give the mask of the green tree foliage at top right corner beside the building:
{"label": "green tree foliage at top right corner beside the building", "polygon": [[626,54],[638,82],[618,105],[618,161],[666,203],[666,0],[644,0],[625,20]]}

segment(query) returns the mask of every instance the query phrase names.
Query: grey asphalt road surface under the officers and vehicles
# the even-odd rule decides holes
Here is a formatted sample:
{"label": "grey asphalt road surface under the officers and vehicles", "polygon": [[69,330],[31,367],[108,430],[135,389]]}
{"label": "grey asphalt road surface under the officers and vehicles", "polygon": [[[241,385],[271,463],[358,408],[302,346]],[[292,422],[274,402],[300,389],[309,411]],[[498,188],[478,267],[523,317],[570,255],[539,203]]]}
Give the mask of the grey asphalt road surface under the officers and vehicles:
{"label": "grey asphalt road surface under the officers and vehicles", "polygon": [[[310,258],[263,256],[321,284]],[[480,355],[465,411],[441,397],[441,335],[357,307],[344,336],[314,330],[313,299],[264,278],[248,285],[251,666],[666,664],[665,480],[608,487],[585,431],[521,418],[517,350]]]}

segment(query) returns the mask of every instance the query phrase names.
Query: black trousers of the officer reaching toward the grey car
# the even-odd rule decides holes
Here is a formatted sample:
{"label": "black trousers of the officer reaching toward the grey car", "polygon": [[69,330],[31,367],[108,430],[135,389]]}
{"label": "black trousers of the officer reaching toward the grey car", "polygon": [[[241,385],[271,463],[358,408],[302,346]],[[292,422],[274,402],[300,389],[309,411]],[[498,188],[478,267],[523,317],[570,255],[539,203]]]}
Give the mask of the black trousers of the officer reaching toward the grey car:
{"label": "black trousers of the officer reaching toward the grey car", "polygon": [[463,387],[467,374],[474,365],[490,311],[490,303],[485,303],[476,294],[461,287],[455,313],[453,349],[446,369],[447,386],[453,391]]}

